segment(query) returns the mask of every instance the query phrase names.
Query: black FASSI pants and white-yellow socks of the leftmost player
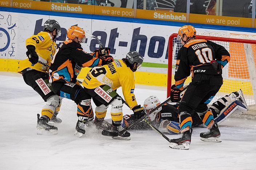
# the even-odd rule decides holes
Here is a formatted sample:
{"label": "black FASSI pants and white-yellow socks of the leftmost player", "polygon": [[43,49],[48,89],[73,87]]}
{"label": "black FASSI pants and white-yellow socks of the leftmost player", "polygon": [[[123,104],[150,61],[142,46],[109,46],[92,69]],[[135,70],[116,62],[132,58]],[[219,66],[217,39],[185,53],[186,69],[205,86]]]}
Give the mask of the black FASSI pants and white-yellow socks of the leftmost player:
{"label": "black FASSI pants and white-yellow socks of the leftmost player", "polygon": [[31,86],[46,102],[41,110],[41,115],[51,119],[53,113],[60,110],[62,98],[52,92],[48,80],[49,75],[35,69],[26,68],[22,71],[22,76],[25,83]]}

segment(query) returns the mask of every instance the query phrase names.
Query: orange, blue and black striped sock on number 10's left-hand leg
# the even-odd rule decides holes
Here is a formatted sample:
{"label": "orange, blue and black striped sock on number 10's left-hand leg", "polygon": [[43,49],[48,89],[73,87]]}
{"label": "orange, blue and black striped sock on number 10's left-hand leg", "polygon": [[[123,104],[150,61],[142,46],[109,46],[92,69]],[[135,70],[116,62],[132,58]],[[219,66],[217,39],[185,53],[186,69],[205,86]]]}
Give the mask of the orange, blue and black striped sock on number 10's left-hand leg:
{"label": "orange, blue and black striped sock on number 10's left-hand leg", "polygon": [[186,111],[180,112],[180,133],[188,131],[192,127],[192,117]]}

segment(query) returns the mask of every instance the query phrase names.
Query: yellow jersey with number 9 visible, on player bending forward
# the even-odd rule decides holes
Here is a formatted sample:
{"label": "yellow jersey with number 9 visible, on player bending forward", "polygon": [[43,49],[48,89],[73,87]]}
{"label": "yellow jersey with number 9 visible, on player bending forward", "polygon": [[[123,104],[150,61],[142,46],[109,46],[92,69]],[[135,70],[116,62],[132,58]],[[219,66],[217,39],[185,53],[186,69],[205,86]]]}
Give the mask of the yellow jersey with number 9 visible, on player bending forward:
{"label": "yellow jersey with number 9 visible, on player bending forward", "polygon": [[123,60],[116,60],[101,67],[92,68],[83,81],[83,86],[95,89],[100,85],[108,85],[113,90],[122,87],[125,101],[130,109],[137,106],[135,95],[135,76]]}

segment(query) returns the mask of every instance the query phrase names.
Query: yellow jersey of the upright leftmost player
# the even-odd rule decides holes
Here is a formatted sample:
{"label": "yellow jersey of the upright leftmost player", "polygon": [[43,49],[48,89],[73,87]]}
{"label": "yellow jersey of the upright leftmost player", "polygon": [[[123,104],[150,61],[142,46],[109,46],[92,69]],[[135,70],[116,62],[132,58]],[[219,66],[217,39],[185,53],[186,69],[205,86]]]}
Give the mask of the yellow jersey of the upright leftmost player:
{"label": "yellow jersey of the upright leftmost player", "polygon": [[[26,46],[32,45],[36,48],[36,53],[39,57],[39,61],[50,65],[52,57],[56,52],[57,45],[52,40],[52,36],[47,32],[40,32],[37,35],[32,35],[26,39]],[[18,64],[18,72],[21,73],[25,68],[32,68],[41,72],[48,72],[48,68],[40,63],[36,63],[32,66],[31,62],[27,59],[20,60]]]}

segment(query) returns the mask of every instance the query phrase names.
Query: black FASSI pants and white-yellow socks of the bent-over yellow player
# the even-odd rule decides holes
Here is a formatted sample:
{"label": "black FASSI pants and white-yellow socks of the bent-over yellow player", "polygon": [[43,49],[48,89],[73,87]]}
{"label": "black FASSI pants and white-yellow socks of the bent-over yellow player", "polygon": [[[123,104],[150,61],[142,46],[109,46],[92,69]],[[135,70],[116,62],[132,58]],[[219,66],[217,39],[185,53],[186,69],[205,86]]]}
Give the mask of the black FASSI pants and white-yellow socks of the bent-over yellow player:
{"label": "black FASSI pants and white-yellow socks of the bent-over yellow player", "polygon": [[104,119],[107,108],[111,105],[113,125],[120,125],[123,119],[123,101],[121,97],[108,85],[101,85],[95,89],[86,89],[96,105],[95,117]]}

